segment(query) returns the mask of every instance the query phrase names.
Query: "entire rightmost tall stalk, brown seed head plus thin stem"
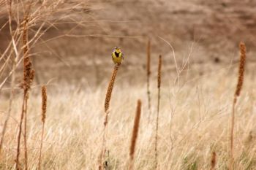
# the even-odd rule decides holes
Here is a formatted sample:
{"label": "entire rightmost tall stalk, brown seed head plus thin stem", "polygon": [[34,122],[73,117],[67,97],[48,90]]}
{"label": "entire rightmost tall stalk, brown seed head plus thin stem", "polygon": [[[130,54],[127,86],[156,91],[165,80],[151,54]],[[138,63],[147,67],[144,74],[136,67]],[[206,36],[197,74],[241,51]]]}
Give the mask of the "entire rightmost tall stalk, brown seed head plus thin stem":
{"label": "entire rightmost tall stalk, brown seed head plus thin stem", "polygon": [[236,109],[236,101],[238,96],[240,96],[241,88],[244,82],[244,68],[246,61],[246,46],[244,42],[240,42],[240,63],[239,63],[239,71],[238,71],[238,83],[236,85],[236,92],[233,99],[233,107],[231,113],[231,128],[230,128],[230,170],[233,170],[234,167],[234,127],[235,127],[235,109]]}

